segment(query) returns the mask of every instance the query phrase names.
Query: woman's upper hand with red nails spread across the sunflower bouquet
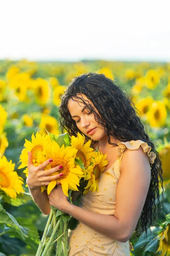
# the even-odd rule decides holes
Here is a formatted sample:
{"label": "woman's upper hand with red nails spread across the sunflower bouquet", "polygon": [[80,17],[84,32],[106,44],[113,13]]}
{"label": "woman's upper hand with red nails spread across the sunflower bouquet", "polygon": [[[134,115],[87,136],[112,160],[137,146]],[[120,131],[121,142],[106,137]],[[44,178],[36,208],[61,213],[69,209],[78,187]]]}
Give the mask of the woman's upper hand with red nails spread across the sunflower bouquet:
{"label": "woman's upper hand with red nails spread across the sunflower bouquet", "polygon": [[[59,170],[61,169],[59,168],[59,166],[51,168],[47,171],[43,170],[51,162],[51,160],[47,160],[39,166],[34,166],[32,163],[32,154],[31,152],[28,152],[28,177],[26,183],[30,189],[36,189],[41,186],[48,186],[51,180],[59,179],[59,175],[61,175],[61,173],[57,175],[52,175],[54,172],[59,172]],[[56,184],[60,185],[61,183],[57,182]]]}

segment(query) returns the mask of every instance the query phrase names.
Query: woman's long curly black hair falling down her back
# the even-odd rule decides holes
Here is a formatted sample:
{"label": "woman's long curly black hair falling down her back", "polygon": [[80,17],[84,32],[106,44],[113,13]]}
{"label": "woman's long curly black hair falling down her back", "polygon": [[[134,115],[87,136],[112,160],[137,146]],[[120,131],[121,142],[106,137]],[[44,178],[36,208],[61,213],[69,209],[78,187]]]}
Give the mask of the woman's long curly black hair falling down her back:
{"label": "woman's long curly black hair falling down her back", "polygon": [[[151,180],[149,190],[134,231],[134,238],[136,239],[140,236],[141,228],[142,232],[144,232],[144,235],[147,237],[148,224],[150,228],[153,221],[157,218],[156,212],[158,212],[159,215],[161,209],[159,182],[161,184],[163,198],[164,187],[159,153],[156,151],[154,144],[150,141],[147,132],[144,131],[144,125],[142,124],[135,105],[130,100],[127,92],[124,93],[122,89],[125,88],[115,84],[103,74],[85,73],[75,77],[70,84],[68,84],[65,94],[62,96],[61,104],[59,105],[59,121],[62,132],[65,129],[70,136],[77,136],[77,132],[82,134],[68,111],[68,101],[74,97],[73,100],[78,103],[83,102],[85,107],[94,113],[94,119],[104,127],[105,133],[108,135],[109,144],[113,144],[111,143],[110,136],[122,142],[142,140],[146,142],[156,154],[154,163],[150,164]],[[90,99],[94,107],[99,111],[101,118],[92,105],[88,104],[89,102],[87,103],[87,100],[85,101],[77,94],[84,94]],[[105,122],[105,120],[107,120],[107,122]],[[89,137],[85,135],[85,139],[88,141]],[[95,141],[92,140],[92,147],[94,143]]]}

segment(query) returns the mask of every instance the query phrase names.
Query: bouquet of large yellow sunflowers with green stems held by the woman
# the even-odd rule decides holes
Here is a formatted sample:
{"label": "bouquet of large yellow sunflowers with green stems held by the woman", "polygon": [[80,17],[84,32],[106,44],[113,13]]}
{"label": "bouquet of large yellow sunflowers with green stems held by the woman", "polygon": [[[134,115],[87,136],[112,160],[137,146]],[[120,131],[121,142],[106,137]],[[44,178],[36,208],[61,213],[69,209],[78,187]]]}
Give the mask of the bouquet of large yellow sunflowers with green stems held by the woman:
{"label": "bouquet of large yellow sunflowers with green stems held by the woman", "polygon": [[[79,206],[82,195],[88,191],[99,190],[98,181],[101,173],[108,164],[103,155],[96,149],[91,148],[91,140],[85,143],[84,135],[77,134],[77,137],[69,137],[68,133],[56,136],[54,134],[32,134],[32,142],[26,140],[25,148],[20,155],[21,165],[19,169],[27,166],[28,151],[33,155],[34,166],[39,166],[49,158],[53,161],[44,170],[62,165],[63,176],[57,180],[51,180],[48,186],[42,186],[41,192],[49,195],[57,182],[61,183],[63,193],[68,197],[71,204]],[[24,171],[28,177],[28,169]],[[54,172],[56,175],[59,172]],[[27,185],[26,185],[27,186]],[[74,191],[80,191],[75,202],[72,202]],[[74,229],[78,221],[51,206],[51,212],[40,241],[36,256],[52,255],[55,251],[58,256],[68,256],[68,229]]]}

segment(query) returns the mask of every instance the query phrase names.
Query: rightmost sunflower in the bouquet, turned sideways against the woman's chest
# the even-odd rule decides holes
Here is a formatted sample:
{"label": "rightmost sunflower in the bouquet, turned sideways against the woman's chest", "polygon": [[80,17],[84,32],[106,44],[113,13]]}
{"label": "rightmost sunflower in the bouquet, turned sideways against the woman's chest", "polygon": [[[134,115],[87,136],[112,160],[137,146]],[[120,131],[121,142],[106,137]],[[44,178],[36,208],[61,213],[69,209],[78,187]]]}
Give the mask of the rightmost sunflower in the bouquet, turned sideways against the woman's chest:
{"label": "rightmost sunflower in the bouquet, turned sideways against the woman's chest", "polygon": [[85,187],[83,192],[87,194],[88,191],[99,192],[99,178],[102,172],[105,169],[105,166],[108,164],[108,160],[105,160],[107,154],[103,155],[102,152],[95,152],[94,158],[92,158],[92,164],[88,168],[88,175],[85,177],[85,180],[88,180],[88,184]]}

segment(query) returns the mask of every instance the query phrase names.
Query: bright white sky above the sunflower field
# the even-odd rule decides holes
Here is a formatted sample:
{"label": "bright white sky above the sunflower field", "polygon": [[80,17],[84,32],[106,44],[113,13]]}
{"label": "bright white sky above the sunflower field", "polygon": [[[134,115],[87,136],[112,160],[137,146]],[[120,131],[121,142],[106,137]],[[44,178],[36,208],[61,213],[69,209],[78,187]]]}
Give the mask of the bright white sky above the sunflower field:
{"label": "bright white sky above the sunflower field", "polygon": [[170,62],[168,0],[5,0],[0,59]]}

